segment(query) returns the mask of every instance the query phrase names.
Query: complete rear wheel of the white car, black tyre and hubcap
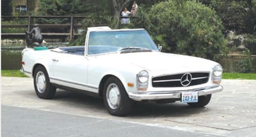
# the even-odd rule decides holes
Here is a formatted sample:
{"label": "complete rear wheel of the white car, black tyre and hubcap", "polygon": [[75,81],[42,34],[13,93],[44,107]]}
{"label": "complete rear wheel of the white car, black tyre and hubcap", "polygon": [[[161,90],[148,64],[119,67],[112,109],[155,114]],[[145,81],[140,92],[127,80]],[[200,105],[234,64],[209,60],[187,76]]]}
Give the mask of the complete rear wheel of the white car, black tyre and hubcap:
{"label": "complete rear wheel of the white car, black tyre and hubcap", "polygon": [[56,88],[50,84],[49,76],[43,66],[37,66],[34,71],[34,90],[39,98],[50,99],[56,93]]}

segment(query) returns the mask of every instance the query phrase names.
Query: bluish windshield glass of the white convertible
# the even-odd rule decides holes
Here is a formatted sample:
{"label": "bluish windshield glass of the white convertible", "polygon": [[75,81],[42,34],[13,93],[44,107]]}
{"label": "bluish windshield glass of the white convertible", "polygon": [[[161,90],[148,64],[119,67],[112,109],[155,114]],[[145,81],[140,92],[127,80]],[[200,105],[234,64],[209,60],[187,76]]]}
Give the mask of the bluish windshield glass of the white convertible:
{"label": "bluish windshield glass of the white convertible", "polygon": [[89,36],[88,55],[100,53],[158,50],[146,30],[93,31]]}

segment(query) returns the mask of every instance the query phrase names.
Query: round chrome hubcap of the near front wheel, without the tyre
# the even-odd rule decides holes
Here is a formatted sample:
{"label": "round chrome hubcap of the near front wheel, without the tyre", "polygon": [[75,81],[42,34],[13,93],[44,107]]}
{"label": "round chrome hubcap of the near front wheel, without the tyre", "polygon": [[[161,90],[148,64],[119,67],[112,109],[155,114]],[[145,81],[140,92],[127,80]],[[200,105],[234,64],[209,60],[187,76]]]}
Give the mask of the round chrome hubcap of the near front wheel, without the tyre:
{"label": "round chrome hubcap of the near front wheel, without the tyre", "polygon": [[111,109],[117,109],[120,103],[120,90],[118,85],[112,83],[109,84],[106,90],[106,99]]}

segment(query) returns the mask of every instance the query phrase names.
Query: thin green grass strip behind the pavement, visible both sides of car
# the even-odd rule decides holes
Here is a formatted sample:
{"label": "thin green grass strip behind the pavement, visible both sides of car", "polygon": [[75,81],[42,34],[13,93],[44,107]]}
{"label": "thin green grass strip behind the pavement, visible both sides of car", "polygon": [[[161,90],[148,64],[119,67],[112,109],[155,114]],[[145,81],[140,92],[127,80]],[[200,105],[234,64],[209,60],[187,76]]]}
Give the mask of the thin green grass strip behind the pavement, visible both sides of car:
{"label": "thin green grass strip behind the pavement, visible both sides of car", "polygon": [[[2,77],[27,77],[18,70],[1,70]],[[223,79],[254,79],[256,74],[223,73]]]}

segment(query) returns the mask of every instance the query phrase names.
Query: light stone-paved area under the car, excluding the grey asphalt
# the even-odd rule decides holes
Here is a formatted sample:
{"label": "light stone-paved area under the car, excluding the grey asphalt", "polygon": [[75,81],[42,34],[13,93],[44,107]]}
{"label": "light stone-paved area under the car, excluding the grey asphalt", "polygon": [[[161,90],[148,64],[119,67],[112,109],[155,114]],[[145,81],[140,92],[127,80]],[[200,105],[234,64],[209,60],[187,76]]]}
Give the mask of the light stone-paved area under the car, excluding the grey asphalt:
{"label": "light stone-paved area under the car, excluding the grey asphalt", "polygon": [[[217,136],[256,136],[256,81],[222,81],[224,90],[213,94],[202,109],[187,104],[135,103],[127,117],[111,116],[100,98],[58,90],[52,100],[34,93],[32,78],[1,77],[4,106],[73,114],[120,122],[138,123],[167,129],[208,133]],[[2,125],[4,126],[4,125]]]}

